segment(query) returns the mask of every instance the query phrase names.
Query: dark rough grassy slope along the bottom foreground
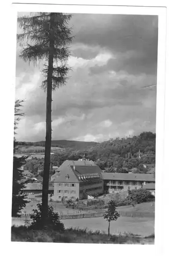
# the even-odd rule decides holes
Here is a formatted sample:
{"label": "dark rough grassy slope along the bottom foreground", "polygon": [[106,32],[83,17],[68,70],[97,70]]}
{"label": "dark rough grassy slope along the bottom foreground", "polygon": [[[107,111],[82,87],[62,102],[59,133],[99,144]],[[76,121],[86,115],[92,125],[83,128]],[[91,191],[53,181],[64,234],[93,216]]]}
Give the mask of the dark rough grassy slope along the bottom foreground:
{"label": "dark rough grassy slope along the bottom foreground", "polygon": [[98,244],[154,244],[154,236],[138,237],[130,233],[110,235],[86,229],[65,229],[65,231],[31,231],[25,227],[12,227],[11,241],[48,243],[98,243]]}

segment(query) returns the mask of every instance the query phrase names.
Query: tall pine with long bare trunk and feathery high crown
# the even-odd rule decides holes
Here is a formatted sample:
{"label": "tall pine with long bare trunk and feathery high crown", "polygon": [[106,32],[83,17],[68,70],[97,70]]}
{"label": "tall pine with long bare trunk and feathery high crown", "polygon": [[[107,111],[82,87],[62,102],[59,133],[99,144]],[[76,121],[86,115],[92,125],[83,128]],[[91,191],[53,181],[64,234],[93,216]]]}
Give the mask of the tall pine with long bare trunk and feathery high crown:
{"label": "tall pine with long bare trunk and feathery high crown", "polygon": [[52,139],[52,90],[58,89],[67,81],[69,68],[66,61],[70,56],[71,29],[68,22],[71,15],[63,13],[35,13],[32,16],[18,18],[22,33],[17,35],[19,41],[27,40],[27,46],[22,49],[20,57],[29,62],[45,60],[43,66],[44,81],[42,88],[46,93],[46,137],[42,187],[43,225],[47,223],[48,190],[51,162]]}

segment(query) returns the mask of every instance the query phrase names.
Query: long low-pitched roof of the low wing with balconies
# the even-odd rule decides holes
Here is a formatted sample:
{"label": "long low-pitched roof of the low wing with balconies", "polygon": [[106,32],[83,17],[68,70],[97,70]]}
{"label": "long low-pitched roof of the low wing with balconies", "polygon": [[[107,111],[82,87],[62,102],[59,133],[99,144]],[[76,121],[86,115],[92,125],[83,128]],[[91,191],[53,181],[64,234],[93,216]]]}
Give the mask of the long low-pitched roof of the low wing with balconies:
{"label": "long low-pitched roof of the low wing with balconies", "polygon": [[103,180],[155,181],[152,174],[102,173]]}

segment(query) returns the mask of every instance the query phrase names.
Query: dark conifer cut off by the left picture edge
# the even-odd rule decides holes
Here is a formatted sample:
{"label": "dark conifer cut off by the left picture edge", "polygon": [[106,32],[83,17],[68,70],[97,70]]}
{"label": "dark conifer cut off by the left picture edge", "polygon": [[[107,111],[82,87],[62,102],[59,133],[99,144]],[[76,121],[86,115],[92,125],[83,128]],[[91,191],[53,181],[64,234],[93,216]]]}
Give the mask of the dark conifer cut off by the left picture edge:
{"label": "dark conifer cut off by the left picture edge", "polygon": [[[22,106],[23,100],[15,101],[15,119],[14,119],[14,134],[17,129],[18,121],[21,116],[24,116],[24,113],[21,112],[20,107]],[[14,137],[14,153],[17,149],[17,141]],[[23,195],[23,188],[25,187],[26,182],[23,180],[23,170],[21,166],[26,162],[27,157],[16,157],[13,156],[13,177],[12,177],[12,217],[17,217],[20,214],[20,211],[23,207],[26,206],[28,202],[26,196]]]}

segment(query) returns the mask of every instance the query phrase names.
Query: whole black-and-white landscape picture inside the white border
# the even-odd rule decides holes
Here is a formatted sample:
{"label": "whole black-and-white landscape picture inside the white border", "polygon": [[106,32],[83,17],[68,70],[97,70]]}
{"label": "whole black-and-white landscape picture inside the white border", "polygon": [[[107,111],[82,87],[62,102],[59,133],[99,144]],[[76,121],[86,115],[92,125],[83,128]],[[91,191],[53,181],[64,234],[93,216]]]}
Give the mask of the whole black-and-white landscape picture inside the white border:
{"label": "whole black-and-white landscape picture inside the white border", "polygon": [[155,243],[159,16],[110,9],[17,11],[12,242]]}

